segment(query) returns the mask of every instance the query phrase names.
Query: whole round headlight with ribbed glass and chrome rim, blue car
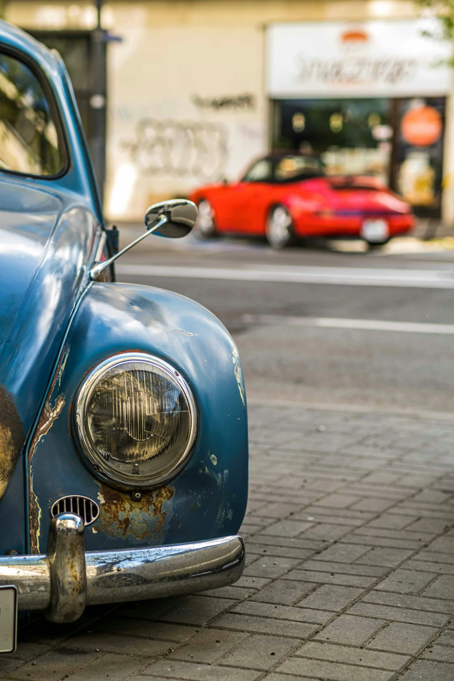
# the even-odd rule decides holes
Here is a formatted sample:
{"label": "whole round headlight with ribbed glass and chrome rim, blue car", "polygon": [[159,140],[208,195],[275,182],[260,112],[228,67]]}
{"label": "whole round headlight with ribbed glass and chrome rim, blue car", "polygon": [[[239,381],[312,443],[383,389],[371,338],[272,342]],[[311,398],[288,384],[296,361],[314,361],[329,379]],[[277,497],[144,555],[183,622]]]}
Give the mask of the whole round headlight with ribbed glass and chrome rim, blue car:
{"label": "whole round headlight with ribbed glass and chrome rim, blue car", "polygon": [[191,454],[197,412],[172,366],[124,353],[99,364],[80,386],[76,428],[95,471],[128,488],[154,487]]}

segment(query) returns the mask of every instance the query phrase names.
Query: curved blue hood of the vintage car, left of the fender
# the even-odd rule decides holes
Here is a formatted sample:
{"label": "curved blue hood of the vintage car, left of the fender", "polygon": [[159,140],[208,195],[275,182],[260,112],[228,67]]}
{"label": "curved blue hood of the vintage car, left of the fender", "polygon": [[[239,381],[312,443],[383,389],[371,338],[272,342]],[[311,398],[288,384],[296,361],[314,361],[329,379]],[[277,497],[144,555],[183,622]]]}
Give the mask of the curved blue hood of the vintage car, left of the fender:
{"label": "curved blue hood of the vintage car, left of the fender", "polygon": [[0,497],[95,248],[91,212],[36,185],[0,176]]}

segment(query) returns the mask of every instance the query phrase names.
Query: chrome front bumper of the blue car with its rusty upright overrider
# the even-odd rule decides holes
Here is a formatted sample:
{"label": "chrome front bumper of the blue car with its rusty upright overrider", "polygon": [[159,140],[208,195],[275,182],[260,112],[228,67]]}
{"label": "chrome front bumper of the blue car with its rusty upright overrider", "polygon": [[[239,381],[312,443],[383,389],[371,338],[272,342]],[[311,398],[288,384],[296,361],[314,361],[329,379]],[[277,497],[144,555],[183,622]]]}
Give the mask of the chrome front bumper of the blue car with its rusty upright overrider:
{"label": "chrome front bumper of the blue car with its rusty upright overrider", "polygon": [[20,610],[74,622],[86,605],[174,596],[233,584],[244,569],[241,537],[85,552],[84,522],[52,518],[47,555],[0,556],[0,585],[18,588]]}

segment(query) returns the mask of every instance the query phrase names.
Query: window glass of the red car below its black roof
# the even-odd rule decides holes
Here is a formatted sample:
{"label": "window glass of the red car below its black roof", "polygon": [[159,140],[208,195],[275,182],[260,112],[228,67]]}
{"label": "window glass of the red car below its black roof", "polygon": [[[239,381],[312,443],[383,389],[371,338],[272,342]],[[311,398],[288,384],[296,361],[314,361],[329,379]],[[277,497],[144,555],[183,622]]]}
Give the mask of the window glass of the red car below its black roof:
{"label": "window glass of the red car below its black roof", "polygon": [[243,182],[296,182],[323,174],[323,164],[317,157],[289,154],[279,159],[256,161],[244,176]]}

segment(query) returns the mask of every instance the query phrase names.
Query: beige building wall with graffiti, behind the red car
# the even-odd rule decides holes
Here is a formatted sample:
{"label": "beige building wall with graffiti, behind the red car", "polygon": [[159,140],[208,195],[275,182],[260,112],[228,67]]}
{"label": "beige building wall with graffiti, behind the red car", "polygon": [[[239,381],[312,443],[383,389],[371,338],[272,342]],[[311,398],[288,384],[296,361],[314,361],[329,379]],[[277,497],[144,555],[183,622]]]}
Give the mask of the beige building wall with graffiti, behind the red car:
{"label": "beige building wall with graffiti, behind the red car", "polygon": [[[106,215],[142,220],[146,207],[240,176],[265,152],[265,27],[301,20],[415,16],[411,0],[110,0]],[[92,3],[7,4],[25,29],[91,29]],[[454,224],[454,106],[445,143],[444,221]]]}

